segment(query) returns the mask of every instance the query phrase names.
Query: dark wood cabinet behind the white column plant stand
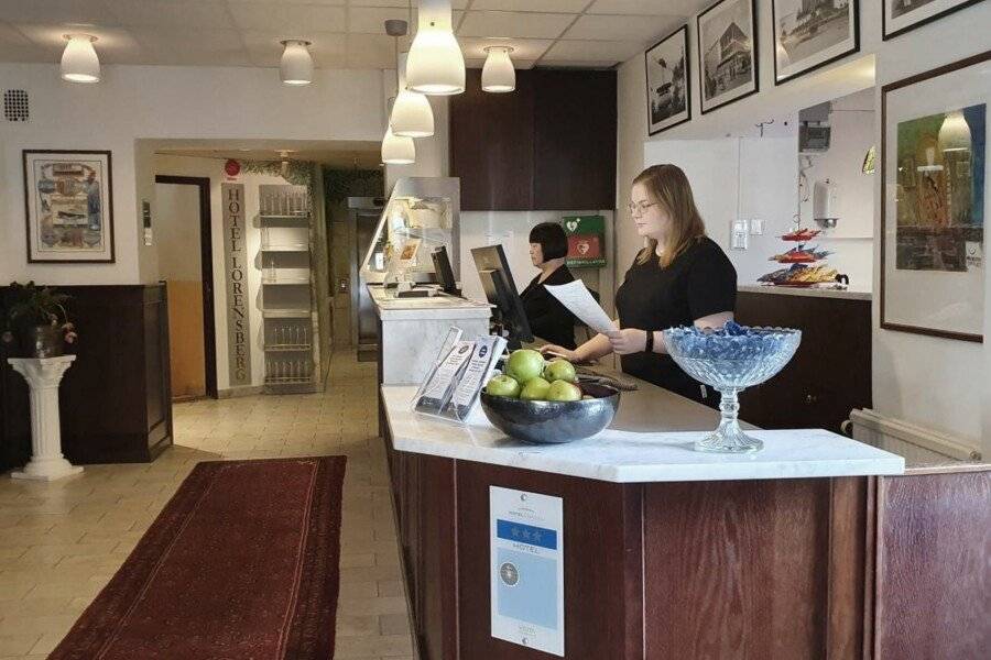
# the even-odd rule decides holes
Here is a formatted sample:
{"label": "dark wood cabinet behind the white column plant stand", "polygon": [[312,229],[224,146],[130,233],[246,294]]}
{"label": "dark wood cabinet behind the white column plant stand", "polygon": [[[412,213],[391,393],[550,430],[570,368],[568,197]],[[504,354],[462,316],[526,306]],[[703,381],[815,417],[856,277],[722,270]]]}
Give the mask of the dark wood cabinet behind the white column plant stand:
{"label": "dark wood cabinet behind the white column plant stand", "polygon": [[[168,308],[165,285],[59,286],[79,341],[59,388],[62,449],[73,463],[153,460],[172,444]],[[28,386],[0,365],[4,468],[31,450]]]}

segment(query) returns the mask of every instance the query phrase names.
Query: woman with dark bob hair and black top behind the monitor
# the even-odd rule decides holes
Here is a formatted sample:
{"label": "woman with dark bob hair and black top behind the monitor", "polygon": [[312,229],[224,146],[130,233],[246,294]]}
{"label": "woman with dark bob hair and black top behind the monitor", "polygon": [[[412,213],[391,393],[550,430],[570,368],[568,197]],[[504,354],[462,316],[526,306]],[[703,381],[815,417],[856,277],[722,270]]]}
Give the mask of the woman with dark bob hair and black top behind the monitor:
{"label": "woman with dark bob hair and black top behind the monitor", "polygon": [[523,309],[534,337],[567,349],[575,348],[575,316],[544,285],[567,284],[575,276],[565,265],[568,238],[560,224],[542,222],[530,230],[530,261],[541,274],[523,289]]}

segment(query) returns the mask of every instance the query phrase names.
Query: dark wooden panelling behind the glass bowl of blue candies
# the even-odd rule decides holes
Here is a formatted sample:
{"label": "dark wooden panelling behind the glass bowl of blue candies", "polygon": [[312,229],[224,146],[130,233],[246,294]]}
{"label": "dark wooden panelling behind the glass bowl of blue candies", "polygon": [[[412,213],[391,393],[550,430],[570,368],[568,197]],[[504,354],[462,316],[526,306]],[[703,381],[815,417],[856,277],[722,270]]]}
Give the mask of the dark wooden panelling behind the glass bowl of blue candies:
{"label": "dark wooden panelling behind the glass bowl of blue candies", "polygon": [[747,421],[839,432],[850,410],[871,407],[870,300],[740,292],[737,319],[802,330],[802,345],[787,366],[740,395]]}

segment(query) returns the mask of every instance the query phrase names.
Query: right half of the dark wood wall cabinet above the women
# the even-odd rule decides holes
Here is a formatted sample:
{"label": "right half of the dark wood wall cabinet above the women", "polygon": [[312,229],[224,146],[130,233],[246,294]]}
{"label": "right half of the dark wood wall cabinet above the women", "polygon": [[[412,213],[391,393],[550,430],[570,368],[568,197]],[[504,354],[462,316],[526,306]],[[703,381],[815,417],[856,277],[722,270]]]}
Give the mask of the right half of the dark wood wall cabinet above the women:
{"label": "right half of the dark wood wall cabinet above the women", "polygon": [[534,90],[533,208],[614,209],[616,72],[526,73]]}

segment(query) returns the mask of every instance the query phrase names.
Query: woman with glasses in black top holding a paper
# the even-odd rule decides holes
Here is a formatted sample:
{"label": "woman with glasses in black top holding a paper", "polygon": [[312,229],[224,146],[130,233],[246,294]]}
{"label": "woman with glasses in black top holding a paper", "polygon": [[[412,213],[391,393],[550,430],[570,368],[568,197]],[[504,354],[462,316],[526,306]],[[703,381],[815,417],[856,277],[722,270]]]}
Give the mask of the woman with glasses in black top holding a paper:
{"label": "woman with glasses in black top holding a paper", "polygon": [[616,293],[620,330],[598,334],[575,350],[542,350],[574,362],[616,353],[623,372],[711,406],[705,385],[667,355],[661,331],[675,326],[718,328],[732,320],[737,272],[706,237],[688,178],[675,165],[654,165],[633,179],[630,215],[645,246]]}

